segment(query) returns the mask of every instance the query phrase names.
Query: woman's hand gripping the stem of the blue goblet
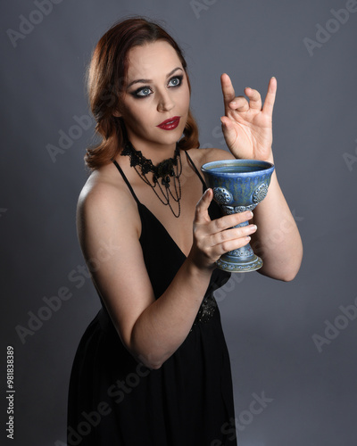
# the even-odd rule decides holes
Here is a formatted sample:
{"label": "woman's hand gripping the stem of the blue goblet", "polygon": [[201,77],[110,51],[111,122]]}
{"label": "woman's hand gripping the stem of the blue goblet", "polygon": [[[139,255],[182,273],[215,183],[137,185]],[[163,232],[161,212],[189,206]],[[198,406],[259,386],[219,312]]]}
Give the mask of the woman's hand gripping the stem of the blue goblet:
{"label": "woman's hand gripping the stem of the blue goblet", "polygon": [[248,244],[249,235],[257,229],[255,225],[234,227],[252,219],[252,211],[225,215],[220,219],[212,220],[208,213],[212,198],[212,189],[207,189],[195,207],[194,243],[188,259],[200,269],[214,268],[214,262],[222,254]]}

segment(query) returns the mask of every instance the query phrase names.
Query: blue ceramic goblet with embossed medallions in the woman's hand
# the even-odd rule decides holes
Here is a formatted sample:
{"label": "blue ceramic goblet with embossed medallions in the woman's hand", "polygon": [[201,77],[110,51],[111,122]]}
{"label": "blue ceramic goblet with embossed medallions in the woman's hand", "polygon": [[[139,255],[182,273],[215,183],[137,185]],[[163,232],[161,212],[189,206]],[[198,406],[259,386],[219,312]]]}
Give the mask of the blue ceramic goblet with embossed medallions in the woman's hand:
{"label": "blue ceramic goblet with embossed medallions in the woman's hand", "polygon": [[[268,194],[274,165],[259,160],[222,160],[203,164],[206,184],[224,215],[252,211]],[[237,227],[247,226],[245,221]],[[258,229],[259,230],[259,229]],[[229,251],[216,261],[217,267],[230,272],[248,272],[262,268],[262,259],[250,244]]]}

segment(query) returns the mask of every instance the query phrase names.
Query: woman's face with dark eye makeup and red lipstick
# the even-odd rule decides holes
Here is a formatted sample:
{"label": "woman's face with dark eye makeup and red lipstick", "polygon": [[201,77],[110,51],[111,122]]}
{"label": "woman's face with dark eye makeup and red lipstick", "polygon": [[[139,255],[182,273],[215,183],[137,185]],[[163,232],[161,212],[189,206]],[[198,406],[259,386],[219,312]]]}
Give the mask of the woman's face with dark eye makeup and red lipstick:
{"label": "woman's face with dark eye makeup and red lipstick", "polygon": [[170,44],[159,40],[131,48],[118,116],[137,150],[175,145],[187,122],[189,99],[185,70]]}

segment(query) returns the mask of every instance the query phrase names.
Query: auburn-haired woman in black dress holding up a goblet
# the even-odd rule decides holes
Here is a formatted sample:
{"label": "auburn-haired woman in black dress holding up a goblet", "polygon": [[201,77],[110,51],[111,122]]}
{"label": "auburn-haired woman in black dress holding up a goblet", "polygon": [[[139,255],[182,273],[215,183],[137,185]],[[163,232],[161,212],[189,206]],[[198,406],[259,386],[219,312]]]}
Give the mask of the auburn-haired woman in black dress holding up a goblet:
{"label": "auburn-haired woman in black dress holding up a goblet", "polygon": [[[212,296],[229,275],[214,262],[252,237],[264,260],[260,272],[291,280],[302,244],[275,173],[254,216],[220,217],[212,202],[203,163],[273,161],[276,79],[263,107],[252,88],[245,88],[249,102],[236,97],[227,74],[221,86],[230,153],[199,150],[187,65],[161,27],[122,21],[95,48],[88,91],[103,141],[87,150],[93,171],[79,197],[78,229],[103,309],[72,368],[70,445],[237,444],[228,351]],[[246,220],[253,223],[234,228]],[[274,244],[270,231],[282,221]]]}

